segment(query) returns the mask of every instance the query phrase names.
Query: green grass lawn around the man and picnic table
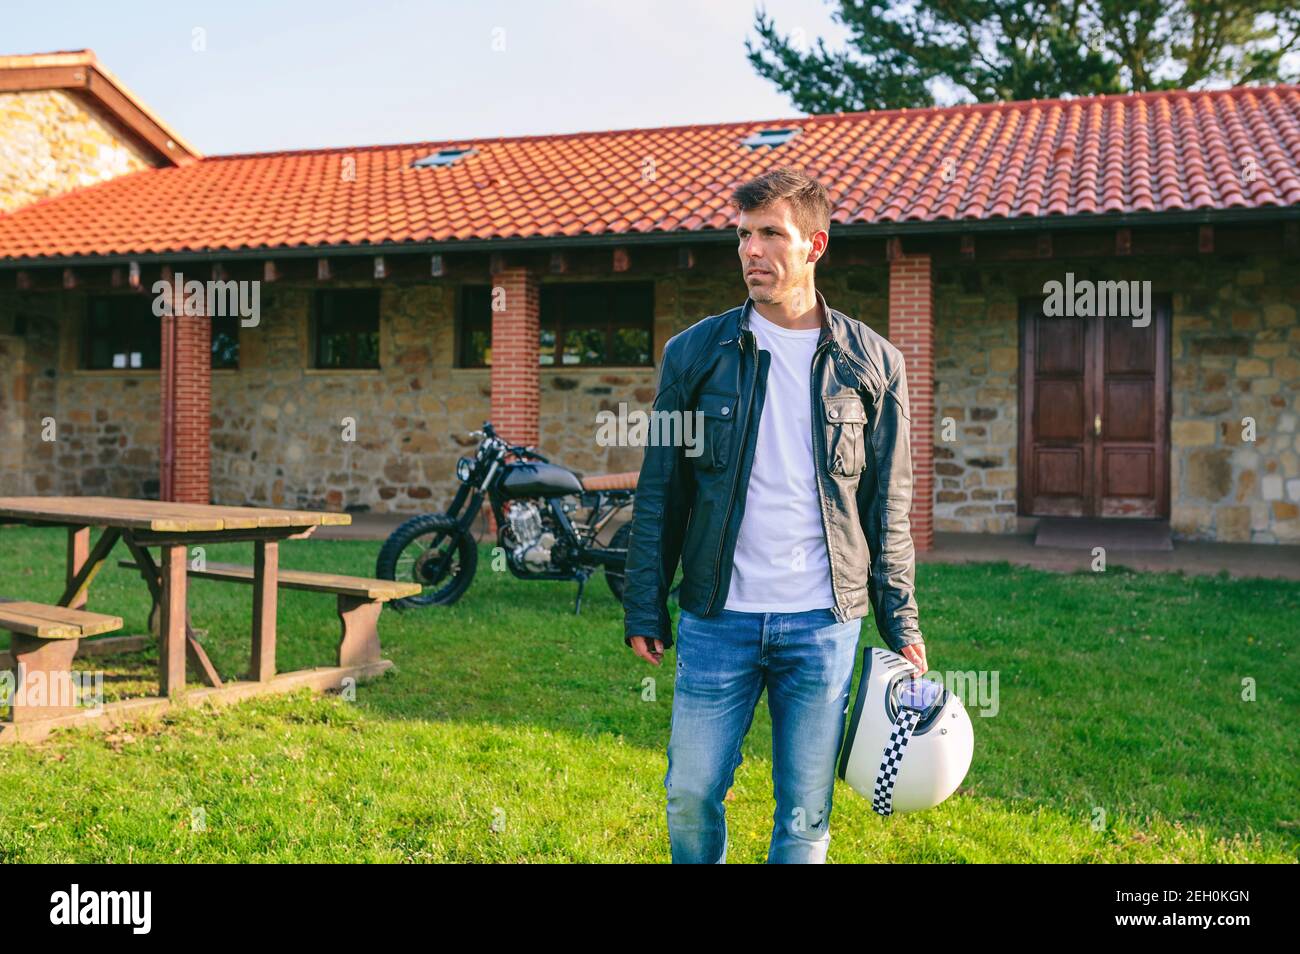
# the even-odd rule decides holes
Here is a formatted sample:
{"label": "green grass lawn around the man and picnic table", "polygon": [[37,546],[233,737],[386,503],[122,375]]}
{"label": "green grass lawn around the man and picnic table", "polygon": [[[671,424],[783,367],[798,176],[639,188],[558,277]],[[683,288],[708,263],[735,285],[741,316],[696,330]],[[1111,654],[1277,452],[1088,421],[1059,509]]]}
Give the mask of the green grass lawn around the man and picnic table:
{"label": "green grass lawn around the man and picnic table", "polygon": [[[57,599],[64,539],[0,529],[0,594]],[[377,548],[290,542],[281,560],[369,576]],[[209,656],[238,676],[250,587],[191,587]],[[395,672],[355,702],[299,693],[5,746],[0,862],[667,860],[671,652],[662,669],[641,663],[604,582],[577,617],[573,590],[493,573],[485,547],[459,604],[385,611]],[[924,564],[918,598],[931,667],[997,671],[998,711],[972,708],[970,775],[932,811],[880,819],[840,784],[832,860],[1297,859],[1300,586]],[[332,664],[333,600],[280,600],[280,668]],[[144,632],[144,586],[116,565],[91,608]],[[870,619],[863,637],[878,642]],[[152,691],[155,660],[91,662],[122,698]],[[1257,701],[1242,699],[1244,678]],[[766,858],[770,746],[764,703],[728,802],[732,862]]]}

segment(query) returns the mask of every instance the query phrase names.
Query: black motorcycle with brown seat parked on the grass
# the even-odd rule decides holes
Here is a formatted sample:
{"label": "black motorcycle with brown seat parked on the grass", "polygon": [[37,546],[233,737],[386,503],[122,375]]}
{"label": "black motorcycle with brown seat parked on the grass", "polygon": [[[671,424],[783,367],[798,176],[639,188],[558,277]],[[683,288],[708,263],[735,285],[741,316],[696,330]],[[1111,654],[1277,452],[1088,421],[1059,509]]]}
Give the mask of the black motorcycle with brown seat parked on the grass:
{"label": "black motorcycle with brown seat parked on the grass", "polygon": [[[398,526],[376,561],[381,580],[413,581],[416,597],[389,603],[398,610],[448,606],[460,599],[478,567],[478,545],[471,526],[488,498],[497,519],[497,543],[506,568],[520,580],[575,580],[573,612],[582,610],[582,587],[597,571],[615,599],[623,602],[624,569],[632,522],[624,522],[602,546],[597,542],[615,516],[636,499],[636,481],[594,477],[584,482],[552,464],[533,447],[511,445],[491,422],[471,432],[478,441],[472,458],[456,461],[460,486],[445,513],[424,513]],[[586,511],[584,521],[571,519]],[[630,517],[630,513],[628,515]],[[676,595],[676,587],[673,587]]]}

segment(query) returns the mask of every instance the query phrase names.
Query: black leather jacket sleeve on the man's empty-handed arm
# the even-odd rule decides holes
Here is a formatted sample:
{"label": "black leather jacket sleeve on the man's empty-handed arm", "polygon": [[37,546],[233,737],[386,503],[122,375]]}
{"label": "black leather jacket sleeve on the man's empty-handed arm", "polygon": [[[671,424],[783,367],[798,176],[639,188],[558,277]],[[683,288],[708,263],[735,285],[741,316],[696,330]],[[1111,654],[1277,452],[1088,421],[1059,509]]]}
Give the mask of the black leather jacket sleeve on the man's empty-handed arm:
{"label": "black leather jacket sleeve on the man's empty-handed arm", "polygon": [[[689,408],[685,407],[688,395],[682,394],[685,382],[681,381],[682,369],[677,357],[680,346],[681,342],[676,338],[664,344],[654,409],[680,411],[680,425],[685,426]],[[651,419],[650,439],[632,506],[632,539],[628,542],[623,587],[623,642],[630,645],[633,636],[645,636],[663,639],[664,649],[668,649],[672,646],[668,590],[677,573],[686,521],[694,502],[694,472],[685,459],[685,447],[676,446],[681,442],[656,445],[654,435],[660,433],[660,428],[655,425]]]}

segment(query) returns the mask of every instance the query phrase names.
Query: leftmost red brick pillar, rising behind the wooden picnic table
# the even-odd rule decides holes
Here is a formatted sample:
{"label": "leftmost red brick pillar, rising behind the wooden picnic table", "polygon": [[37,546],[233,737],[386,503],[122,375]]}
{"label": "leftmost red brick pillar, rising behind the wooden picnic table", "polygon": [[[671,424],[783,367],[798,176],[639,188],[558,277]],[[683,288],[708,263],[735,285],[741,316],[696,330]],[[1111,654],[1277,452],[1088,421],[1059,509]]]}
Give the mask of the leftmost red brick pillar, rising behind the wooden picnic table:
{"label": "leftmost red brick pillar, rising behind the wooden picnic table", "polygon": [[[162,270],[162,279],[173,283],[170,269]],[[162,316],[159,496],[178,503],[211,503],[212,329],[205,316],[185,313],[183,289],[172,300],[172,315]]]}

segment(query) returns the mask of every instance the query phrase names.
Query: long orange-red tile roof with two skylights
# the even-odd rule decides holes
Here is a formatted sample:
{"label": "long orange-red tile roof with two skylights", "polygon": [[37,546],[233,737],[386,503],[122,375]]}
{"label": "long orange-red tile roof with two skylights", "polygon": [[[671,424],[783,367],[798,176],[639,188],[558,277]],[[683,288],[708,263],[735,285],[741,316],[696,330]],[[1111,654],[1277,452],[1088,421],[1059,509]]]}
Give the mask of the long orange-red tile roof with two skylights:
{"label": "long orange-red tile roof with two skylights", "polygon": [[[476,152],[412,166],[450,147]],[[729,229],[785,164],[841,225],[1296,207],[1300,87],[212,156],[3,216],[0,260]]]}

